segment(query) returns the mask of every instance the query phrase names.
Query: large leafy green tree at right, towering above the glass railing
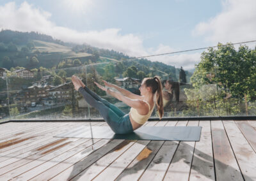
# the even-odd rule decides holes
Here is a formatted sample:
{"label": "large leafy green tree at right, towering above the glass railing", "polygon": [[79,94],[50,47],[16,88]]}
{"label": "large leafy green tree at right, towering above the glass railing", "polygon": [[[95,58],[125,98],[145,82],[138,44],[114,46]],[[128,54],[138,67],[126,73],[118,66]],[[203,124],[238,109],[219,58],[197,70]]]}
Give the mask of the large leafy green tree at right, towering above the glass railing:
{"label": "large leafy green tree at right, towering above the glass railing", "polygon": [[[218,44],[218,49],[209,48],[201,55],[191,82],[197,89],[207,83],[216,83],[225,91],[245,103],[248,115],[248,99],[256,95],[256,54],[246,46],[236,51],[231,43]],[[217,87],[217,89],[218,89]]]}

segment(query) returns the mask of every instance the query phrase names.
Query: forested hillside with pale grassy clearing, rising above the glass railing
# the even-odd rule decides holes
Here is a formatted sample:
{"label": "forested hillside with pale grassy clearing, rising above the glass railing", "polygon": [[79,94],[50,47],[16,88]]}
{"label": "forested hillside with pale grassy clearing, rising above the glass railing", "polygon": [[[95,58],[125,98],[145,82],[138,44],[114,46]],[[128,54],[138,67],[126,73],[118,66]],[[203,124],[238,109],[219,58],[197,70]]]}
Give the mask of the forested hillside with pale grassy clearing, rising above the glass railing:
{"label": "forested hillside with pale grassy clearing, rising above the glass railing", "polygon": [[[19,31],[2,30],[0,32],[0,67],[7,69],[17,66],[24,68],[52,68],[59,66],[70,67],[68,59],[79,59],[81,64],[103,61],[120,61],[131,59],[115,50],[106,50],[90,45],[77,45],[54,40],[51,36],[36,32],[22,33]],[[138,70],[155,75],[179,77],[179,68],[166,65],[162,62],[151,62],[147,59],[137,59],[125,63],[126,66],[136,66]],[[147,67],[147,68],[146,68]],[[60,68],[60,67],[59,67]],[[188,76],[191,73],[186,71]]]}

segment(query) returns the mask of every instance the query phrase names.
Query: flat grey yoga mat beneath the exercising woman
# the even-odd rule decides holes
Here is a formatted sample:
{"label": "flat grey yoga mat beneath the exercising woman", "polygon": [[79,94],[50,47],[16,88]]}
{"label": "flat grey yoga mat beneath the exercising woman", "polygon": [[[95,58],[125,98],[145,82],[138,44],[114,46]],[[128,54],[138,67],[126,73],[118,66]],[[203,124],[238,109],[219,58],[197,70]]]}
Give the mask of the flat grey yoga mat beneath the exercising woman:
{"label": "flat grey yoga mat beneath the exercising woman", "polygon": [[128,134],[115,134],[108,126],[82,126],[55,137],[121,140],[200,141],[201,126],[143,126]]}

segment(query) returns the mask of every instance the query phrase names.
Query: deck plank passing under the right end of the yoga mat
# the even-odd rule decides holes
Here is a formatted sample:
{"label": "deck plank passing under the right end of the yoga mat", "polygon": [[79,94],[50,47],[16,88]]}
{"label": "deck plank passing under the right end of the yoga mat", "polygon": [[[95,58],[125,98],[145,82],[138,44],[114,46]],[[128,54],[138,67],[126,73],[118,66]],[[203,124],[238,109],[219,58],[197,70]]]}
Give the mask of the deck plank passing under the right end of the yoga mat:
{"label": "deck plank passing under the right end of the yoga mat", "polygon": [[[198,121],[189,121],[188,126],[198,126]],[[195,141],[180,141],[164,180],[188,180],[195,148]]]}

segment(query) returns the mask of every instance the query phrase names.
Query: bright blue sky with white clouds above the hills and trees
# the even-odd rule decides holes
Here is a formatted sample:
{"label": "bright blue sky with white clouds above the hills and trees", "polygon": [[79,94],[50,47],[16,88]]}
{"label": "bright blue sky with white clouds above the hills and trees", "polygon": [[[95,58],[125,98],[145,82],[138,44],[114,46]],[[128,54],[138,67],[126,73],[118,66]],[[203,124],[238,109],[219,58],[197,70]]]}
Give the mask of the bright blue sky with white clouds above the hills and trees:
{"label": "bright blue sky with white clouds above the hills and trees", "polygon": [[[256,40],[255,9],[255,0],[0,0],[0,29],[140,57]],[[201,53],[148,59],[192,70]]]}

